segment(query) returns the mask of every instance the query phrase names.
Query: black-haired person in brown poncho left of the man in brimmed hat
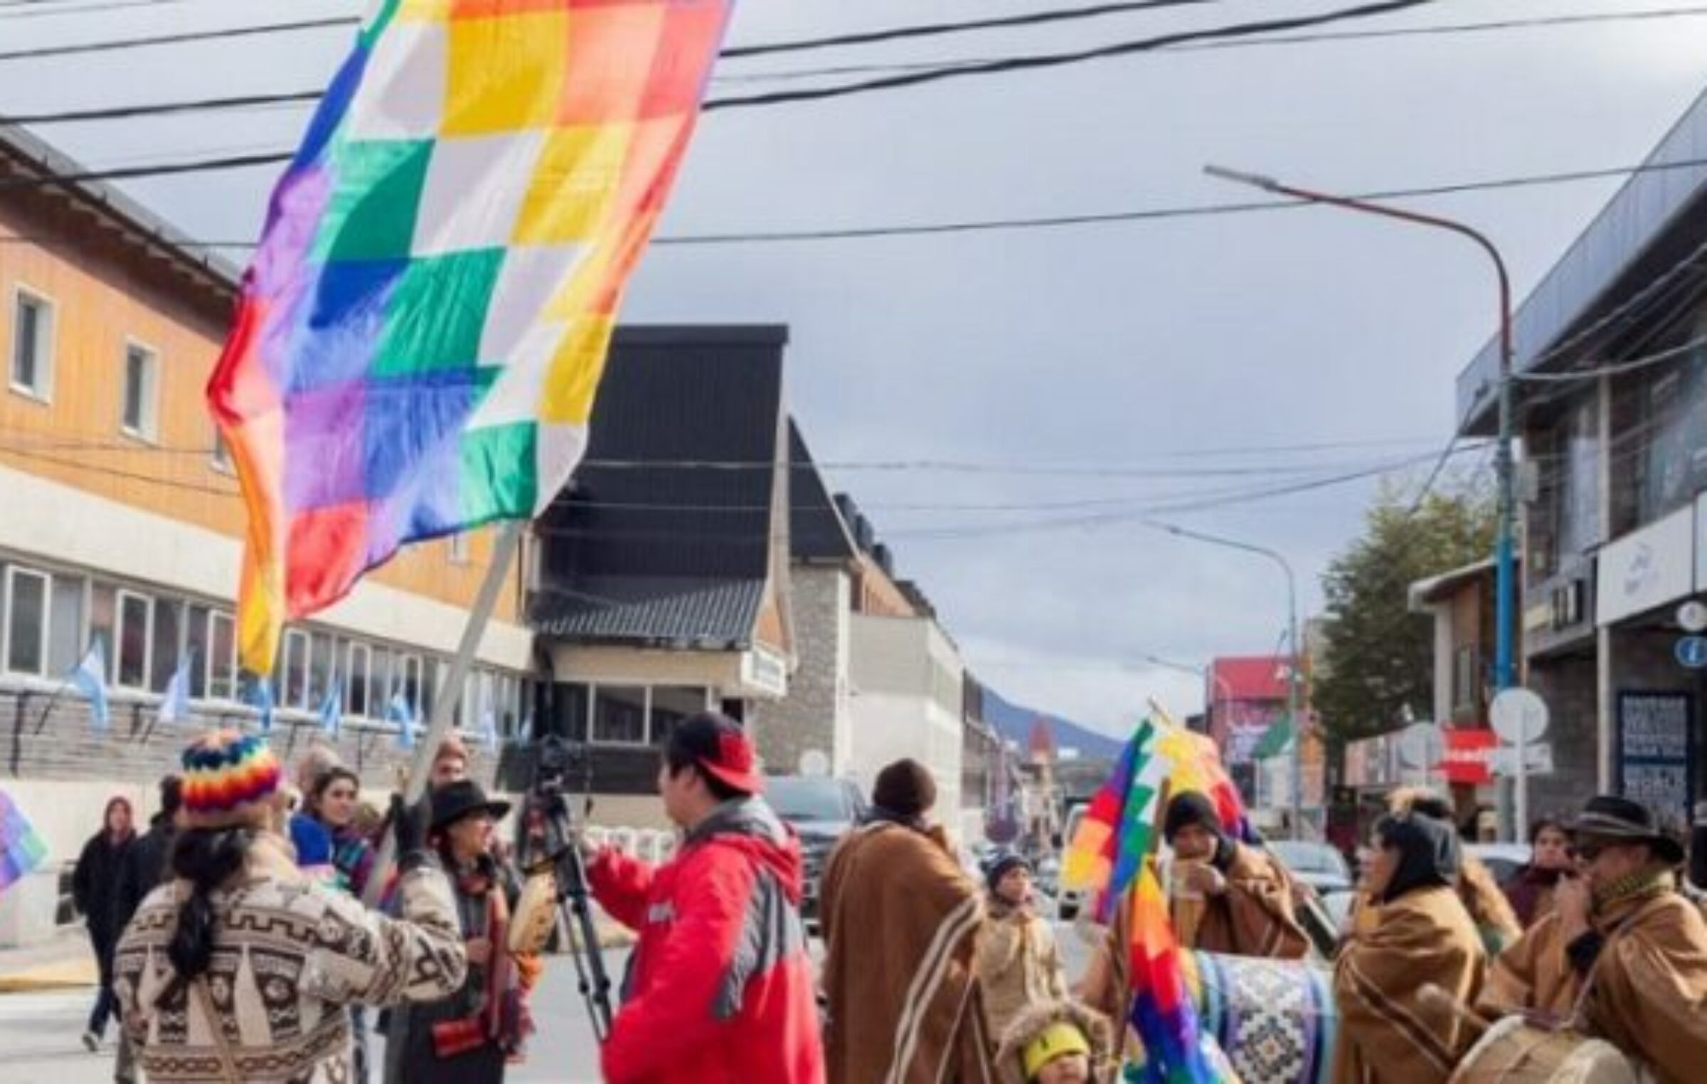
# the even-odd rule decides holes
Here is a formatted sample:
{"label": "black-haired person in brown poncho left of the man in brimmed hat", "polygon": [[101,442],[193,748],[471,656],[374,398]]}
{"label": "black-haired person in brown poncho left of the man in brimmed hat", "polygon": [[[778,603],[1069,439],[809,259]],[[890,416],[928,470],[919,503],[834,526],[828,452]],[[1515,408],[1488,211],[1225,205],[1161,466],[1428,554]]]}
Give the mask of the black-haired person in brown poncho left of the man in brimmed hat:
{"label": "black-haired person in brown poncho left of the man in brimmed hat", "polygon": [[1383,818],[1376,845],[1357,929],[1333,968],[1333,1082],[1444,1084],[1468,1034],[1449,1005],[1422,990],[1434,985],[1470,1004],[1485,959],[1453,888],[1458,835],[1449,823],[1410,813]]}

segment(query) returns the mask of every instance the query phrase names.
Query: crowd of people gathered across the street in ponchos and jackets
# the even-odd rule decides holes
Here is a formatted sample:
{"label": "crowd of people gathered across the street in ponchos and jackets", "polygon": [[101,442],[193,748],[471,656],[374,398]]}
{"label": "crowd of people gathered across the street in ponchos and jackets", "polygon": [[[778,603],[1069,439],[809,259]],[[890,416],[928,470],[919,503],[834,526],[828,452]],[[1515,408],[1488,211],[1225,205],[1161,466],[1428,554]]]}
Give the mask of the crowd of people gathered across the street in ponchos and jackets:
{"label": "crowd of people gathered across the street in ponchos and jackets", "polygon": [[[75,876],[101,963],[85,1043],[118,1016],[121,1082],[140,1065],[159,1084],[365,1084],[376,1009],[386,1084],[502,1082],[526,1055],[541,973],[510,935],[521,874],[495,838],[509,806],[468,778],[456,739],[411,807],[364,807],[328,748],[294,782],[295,801],[261,737],[220,732],[184,751],[143,836],[128,802],[108,806]],[[763,799],[744,729],[717,714],[674,727],[657,790],[681,831],[669,860],[579,843],[592,896],[637,934],[599,1050],[606,1081],[1110,1084],[1142,1057],[1125,1026],[1127,906],[1072,982],[1028,862],[1000,854],[982,881],[968,874],[922,765],[884,768],[828,859],[821,968],[801,845]],[[1400,792],[1374,826],[1331,953],[1335,1084],[1444,1084],[1507,1017],[1594,1036],[1661,1084],[1695,1079],[1707,922],[1678,879],[1683,843],[1644,806],[1599,796],[1535,825],[1533,859],[1502,889],[1451,814],[1441,796]],[[382,833],[394,871],[376,867]],[[1183,947],[1311,953],[1308,889],[1212,802],[1174,796],[1162,838]],[[379,908],[362,903],[370,888]]]}

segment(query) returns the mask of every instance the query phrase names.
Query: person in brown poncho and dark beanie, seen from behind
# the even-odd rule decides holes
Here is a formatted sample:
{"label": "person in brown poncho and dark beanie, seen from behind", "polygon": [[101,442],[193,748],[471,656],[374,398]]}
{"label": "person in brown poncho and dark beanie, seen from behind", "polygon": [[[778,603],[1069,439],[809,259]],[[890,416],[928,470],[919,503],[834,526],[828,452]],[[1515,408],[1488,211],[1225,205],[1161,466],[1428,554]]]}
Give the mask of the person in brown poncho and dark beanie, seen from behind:
{"label": "person in brown poncho and dark beanie, seen from behind", "polygon": [[903,760],[824,867],[819,924],[830,1084],[990,1084],[976,980],[983,893],[925,821],[935,780]]}

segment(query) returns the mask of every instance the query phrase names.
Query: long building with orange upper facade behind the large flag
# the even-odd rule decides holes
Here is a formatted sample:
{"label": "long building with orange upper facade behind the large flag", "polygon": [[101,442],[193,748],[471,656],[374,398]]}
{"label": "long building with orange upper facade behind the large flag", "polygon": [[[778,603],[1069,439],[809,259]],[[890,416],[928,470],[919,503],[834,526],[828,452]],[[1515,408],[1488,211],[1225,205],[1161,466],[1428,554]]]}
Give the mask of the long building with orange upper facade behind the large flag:
{"label": "long building with orange upper facade behind the large flag", "polygon": [[[0,719],[15,722],[0,789],[55,860],[75,857],[114,790],[152,797],[193,726],[254,720],[237,703],[232,625],[244,509],[203,398],[239,268],[111,188],[50,183],[79,171],[0,128]],[[386,782],[399,760],[386,707],[401,695],[430,714],[490,557],[490,533],[415,546],[287,630],[280,751],[319,729],[336,686],[345,758]],[[505,734],[527,715],[524,565],[480,647],[468,731],[486,708]],[[92,642],[108,664],[108,734],[63,693]],[[184,661],[196,720],[155,726]]]}

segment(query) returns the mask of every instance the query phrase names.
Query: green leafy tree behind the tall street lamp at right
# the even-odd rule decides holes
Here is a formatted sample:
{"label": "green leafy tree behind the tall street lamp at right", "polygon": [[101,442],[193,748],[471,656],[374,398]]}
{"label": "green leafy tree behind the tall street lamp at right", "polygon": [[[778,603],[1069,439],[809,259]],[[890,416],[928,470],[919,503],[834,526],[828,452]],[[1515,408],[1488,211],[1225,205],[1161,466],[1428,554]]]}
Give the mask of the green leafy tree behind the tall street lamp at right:
{"label": "green leafy tree behind the tall street lamp at right", "polygon": [[[1415,505],[1415,510],[1413,510]],[[1494,553],[1489,487],[1461,481],[1420,504],[1383,488],[1364,534],[1328,565],[1326,656],[1311,700],[1330,756],[1434,703],[1434,620],[1410,611],[1410,586]]]}

